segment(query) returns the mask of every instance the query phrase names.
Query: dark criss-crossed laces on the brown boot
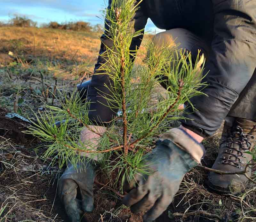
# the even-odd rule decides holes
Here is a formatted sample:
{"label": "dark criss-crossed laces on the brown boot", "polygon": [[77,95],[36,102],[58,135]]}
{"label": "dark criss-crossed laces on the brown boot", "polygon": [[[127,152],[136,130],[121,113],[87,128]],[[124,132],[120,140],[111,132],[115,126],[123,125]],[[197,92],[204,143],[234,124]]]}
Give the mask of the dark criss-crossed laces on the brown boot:
{"label": "dark criss-crossed laces on the brown boot", "polygon": [[[227,149],[225,149],[224,151],[224,154],[227,155],[223,155],[221,157],[221,163],[229,164],[231,166],[235,166],[241,169],[241,164],[243,164],[243,161],[240,159],[240,157],[244,156],[244,152],[250,150],[250,139],[254,139],[254,136],[244,133],[243,129],[240,126],[237,126],[235,131],[231,131],[230,129],[228,129],[227,134],[228,135],[223,139],[221,143],[227,143],[225,146],[227,147]],[[234,146],[235,144],[238,146]]]}

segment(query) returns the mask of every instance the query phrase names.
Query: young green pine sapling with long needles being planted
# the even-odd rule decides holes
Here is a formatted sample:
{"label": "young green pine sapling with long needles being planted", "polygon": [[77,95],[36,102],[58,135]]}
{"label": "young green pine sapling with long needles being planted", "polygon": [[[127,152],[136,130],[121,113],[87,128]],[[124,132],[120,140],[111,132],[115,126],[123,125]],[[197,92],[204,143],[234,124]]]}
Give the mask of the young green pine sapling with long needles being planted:
{"label": "young green pine sapling with long needles being planted", "polygon": [[[132,39],[143,32],[133,32],[130,22],[138,7],[134,0],[113,0],[110,9],[105,11],[106,19],[110,21],[105,34],[113,47],[106,45],[107,50],[101,56],[107,62],[98,71],[109,76],[111,86],[106,87],[112,94],[106,98],[108,106],[121,110],[123,120],[113,120],[107,132],[101,135],[97,147],[90,141],[82,142],[81,130],[87,127],[93,131],[87,112],[90,102],[82,105],[78,95],[73,94],[70,98],[62,95],[65,98],[61,102],[62,108],[46,105],[47,111],[36,115],[36,122],[27,131],[48,142],[44,157],[55,156],[60,167],[67,162],[76,166],[85,158],[81,154],[87,153],[92,159],[98,156],[102,169],[108,175],[115,173],[116,181],[132,178],[135,172],[150,173],[145,154],[150,152],[158,135],[166,131],[172,121],[181,118],[178,107],[202,94],[200,89],[206,86],[201,83],[203,70],[192,64],[189,53],[177,51],[173,46],[156,48],[150,41],[146,44],[145,66],[132,70],[132,57],[136,51],[130,50],[130,45]],[[138,82],[132,81],[135,75],[139,77]],[[156,91],[156,80],[161,82],[162,76],[168,77],[167,97],[160,97],[154,104],[152,94]],[[99,96],[104,95],[99,91]],[[54,123],[62,120],[66,121],[56,127]],[[119,185],[116,182],[116,186]]]}

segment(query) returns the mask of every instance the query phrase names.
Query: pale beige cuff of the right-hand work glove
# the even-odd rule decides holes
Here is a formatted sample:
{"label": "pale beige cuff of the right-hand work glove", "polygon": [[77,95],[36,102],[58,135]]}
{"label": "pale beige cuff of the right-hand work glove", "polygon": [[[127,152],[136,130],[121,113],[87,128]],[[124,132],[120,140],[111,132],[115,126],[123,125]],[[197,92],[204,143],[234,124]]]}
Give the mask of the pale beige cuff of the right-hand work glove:
{"label": "pale beige cuff of the right-hand work glove", "polygon": [[177,147],[190,154],[197,163],[200,163],[204,158],[204,146],[183,129],[173,128],[167,131],[160,137],[162,141],[165,139],[171,140]]}

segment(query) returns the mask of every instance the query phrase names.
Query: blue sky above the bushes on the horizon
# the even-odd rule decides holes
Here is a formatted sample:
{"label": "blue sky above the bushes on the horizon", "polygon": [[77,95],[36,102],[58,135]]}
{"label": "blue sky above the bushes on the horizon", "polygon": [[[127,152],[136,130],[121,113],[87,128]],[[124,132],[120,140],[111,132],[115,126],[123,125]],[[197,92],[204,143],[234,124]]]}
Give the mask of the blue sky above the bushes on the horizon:
{"label": "blue sky above the bushes on the horizon", "polygon": [[[0,0],[0,20],[8,21],[13,14],[25,15],[40,23],[83,20],[103,24],[102,13],[106,0]],[[98,18],[98,17],[100,18]],[[146,30],[159,32],[151,20]]]}

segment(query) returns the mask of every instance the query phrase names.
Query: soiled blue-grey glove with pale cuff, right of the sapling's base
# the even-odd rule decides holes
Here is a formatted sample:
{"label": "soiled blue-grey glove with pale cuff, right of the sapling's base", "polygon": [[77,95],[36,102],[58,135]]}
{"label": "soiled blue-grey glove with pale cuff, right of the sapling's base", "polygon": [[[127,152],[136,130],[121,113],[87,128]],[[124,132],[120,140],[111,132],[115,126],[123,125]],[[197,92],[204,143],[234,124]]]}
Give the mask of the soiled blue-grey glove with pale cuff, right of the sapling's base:
{"label": "soiled blue-grey glove with pale cuff, right of the sapling's base", "polygon": [[144,216],[144,222],[158,218],[171,204],[184,175],[200,163],[204,147],[180,128],[165,133],[146,161],[153,173],[136,174],[124,183],[123,198],[133,213],[153,207]]}

